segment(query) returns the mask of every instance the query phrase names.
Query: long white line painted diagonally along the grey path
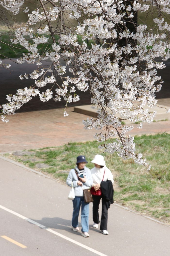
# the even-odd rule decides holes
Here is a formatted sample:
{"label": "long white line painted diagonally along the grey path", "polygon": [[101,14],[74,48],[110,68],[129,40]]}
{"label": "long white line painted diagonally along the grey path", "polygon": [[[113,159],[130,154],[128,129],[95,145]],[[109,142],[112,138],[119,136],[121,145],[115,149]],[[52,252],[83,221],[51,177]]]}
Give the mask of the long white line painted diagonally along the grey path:
{"label": "long white line painted diagonally along the grey path", "polygon": [[[69,237],[66,237],[66,236],[64,236],[64,235],[62,235],[62,234],[60,234],[60,233],[58,233],[58,232],[56,232],[56,231],[54,231],[54,230],[52,230],[52,229],[50,229],[50,228],[47,228],[47,227],[41,225],[40,223],[38,223],[38,222],[36,222],[36,221],[34,221],[34,220],[31,220],[31,219],[29,219],[29,218],[27,218],[27,217],[24,217],[23,215],[21,215],[21,214],[15,212],[15,211],[12,211],[12,210],[10,210],[10,209],[8,209],[8,208],[2,206],[2,205],[0,205],[0,208],[3,209],[3,210],[5,210],[5,211],[8,211],[8,212],[10,212],[10,213],[12,213],[12,214],[14,214],[14,215],[16,215],[16,216],[18,216],[18,217],[21,218],[21,219],[27,220],[28,222],[30,222],[30,223],[32,223],[32,224],[34,224],[34,225],[36,225],[36,226],[38,226],[38,227],[40,227],[40,228],[42,228],[42,229],[47,230],[47,231],[49,231],[49,232],[55,234],[56,236],[59,236],[59,237],[65,239],[65,240],[68,240],[68,241],[70,241],[71,243],[74,243],[74,244],[76,244],[76,245],[78,245],[78,246],[80,246],[80,247],[82,247],[82,248],[85,248],[85,249],[89,250],[90,252],[93,252],[93,253],[95,253],[95,254],[97,254],[97,255],[100,255],[100,256],[107,256],[106,254],[103,254],[103,253],[101,253],[101,252],[99,252],[99,251],[94,250],[93,248],[90,248],[90,247],[88,247],[88,246],[86,246],[86,245],[84,245],[84,244],[82,244],[82,243],[79,243],[79,242],[77,242],[77,241],[75,241],[75,240],[73,240],[73,239],[71,239],[71,238],[69,238]],[[88,239],[88,238],[87,238],[87,239]]]}

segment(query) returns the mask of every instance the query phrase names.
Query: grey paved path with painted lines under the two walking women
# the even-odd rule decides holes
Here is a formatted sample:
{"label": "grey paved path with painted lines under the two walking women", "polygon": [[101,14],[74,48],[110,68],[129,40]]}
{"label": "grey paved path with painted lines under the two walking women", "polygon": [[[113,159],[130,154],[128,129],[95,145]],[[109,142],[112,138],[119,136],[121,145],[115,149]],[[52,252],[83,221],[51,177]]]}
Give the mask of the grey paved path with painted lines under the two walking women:
{"label": "grey paved path with painted lines under the two walking women", "polygon": [[[0,218],[3,219],[0,231],[2,255],[102,255],[76,245],[71,239],[107,256],[169,255],[170,227],[113,204],[109,209],[109,235],[104,236],[99,229],[92,227],[90,204],[90,237],[84,238],[81,232],[71,230],[72,201],[67,200],[69,187],[1,157],[0,176],[0,205],[54,231],[48,232],[0,208]],[[20,248],[1,236],[7,236],[27,248]],[[61,236],[66,236],[69,241]]]}

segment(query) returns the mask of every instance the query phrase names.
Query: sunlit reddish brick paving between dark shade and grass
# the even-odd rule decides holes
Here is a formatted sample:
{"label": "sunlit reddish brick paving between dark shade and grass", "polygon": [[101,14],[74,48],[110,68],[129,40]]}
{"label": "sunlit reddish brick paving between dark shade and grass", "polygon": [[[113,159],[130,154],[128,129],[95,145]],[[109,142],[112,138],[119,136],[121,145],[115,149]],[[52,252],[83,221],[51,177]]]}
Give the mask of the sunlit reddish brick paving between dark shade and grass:
{"label": "sunlit reddish brick paving between dark shade and grass", "polygon": [[[0,152],[51,147],[93,140],[95,130],[85,130],[82,120],[88,116],[73,112],[69,108],[69,116],[63,117],[62,109],[42,110],[17,113],[9,117],[9,123],[0,122]],[[153,134],[170,132],[170,121],[143,124],[142,129],[134,129],[131,134]]]}

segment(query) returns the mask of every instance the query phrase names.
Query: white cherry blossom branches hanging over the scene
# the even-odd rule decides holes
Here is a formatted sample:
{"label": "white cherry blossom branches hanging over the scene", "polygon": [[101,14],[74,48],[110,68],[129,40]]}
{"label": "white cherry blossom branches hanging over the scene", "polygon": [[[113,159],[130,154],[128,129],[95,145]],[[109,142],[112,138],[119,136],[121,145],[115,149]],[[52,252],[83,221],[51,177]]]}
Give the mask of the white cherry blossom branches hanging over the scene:
{"label": "white cherry blossom branches hanging over the scene", "polygon": [[[155,92],[163,83],[156,69],[163,69],[163,61],[170,57],[170,0],[38,0],[32,12],[23,8],[24,0],[1,0],[0,4],[13,15],[28,13],[28,21],[15,29],[11,43],[28,50],[17,59],[19,64],[35,65],[31,74],[20,75],[21,80],[32,79],[32,86],[7,95],[8,103],[1,106],[2,121],[8,122],[7,116],[35,95],[43,102],[63,98],[64,116],[68,116],[68,104],[79,101],[76,90],[89,90],[97,118],[83,123],[86,129],[98,130],[95,137],[101,142],[100,148],[133,158],[149,169],[142,154],[135,153],[134,138],[128,135],[133,125],[121,121],[138,122],[139,129],[142,122],[153,121]],[[145,14],[138,23],[137,12]],[[49,40],[53,41],[51,47],[40,54],[38,45]],[[47,59],[51,65],[42,68],[42,60]],[[66,77],[67,66],[70,76]],[[39,88],[48,83],[51,89],[40,93]]]}

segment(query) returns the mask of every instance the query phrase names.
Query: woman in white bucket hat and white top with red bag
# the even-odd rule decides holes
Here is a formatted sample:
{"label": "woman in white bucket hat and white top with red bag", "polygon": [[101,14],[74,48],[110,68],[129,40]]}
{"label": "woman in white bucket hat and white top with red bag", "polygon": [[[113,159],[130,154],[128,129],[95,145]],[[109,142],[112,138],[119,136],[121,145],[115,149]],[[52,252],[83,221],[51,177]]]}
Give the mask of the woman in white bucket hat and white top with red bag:
{"label": "woman in white bucket hat and white top with red bag", "polygon": [[[108,200],[106,200],[105,195],[101,192],[101,183],[106,184],[112,187],[113,189],[113,175],[111,171],[106,167],[106,163],[104,161],[104,157],[102,155],[95,155],[94,159],[91,163],[95,164],[95,167],[91,169],[91,174],[93,177],[93,187],[91,188],[91,194],[93,197],[93,227],[98,228],[99,221],[99,204],[100,199],[102,199],[102,215],[101,215],[101,223],[100,223],[100,230],[101,232],[106,235],[109,234],[107,231],[107,221],[108,221],[108,208],[110,204],[113,203],[113,196],[112,200],[110,200],[110,204]],[[110,182],[108,182],[110,181]],[[105,183],[103,183],[105,182]],[[110,191],[112,190],[110,189]],[[113,190],[112,190],[113,191]]]}

